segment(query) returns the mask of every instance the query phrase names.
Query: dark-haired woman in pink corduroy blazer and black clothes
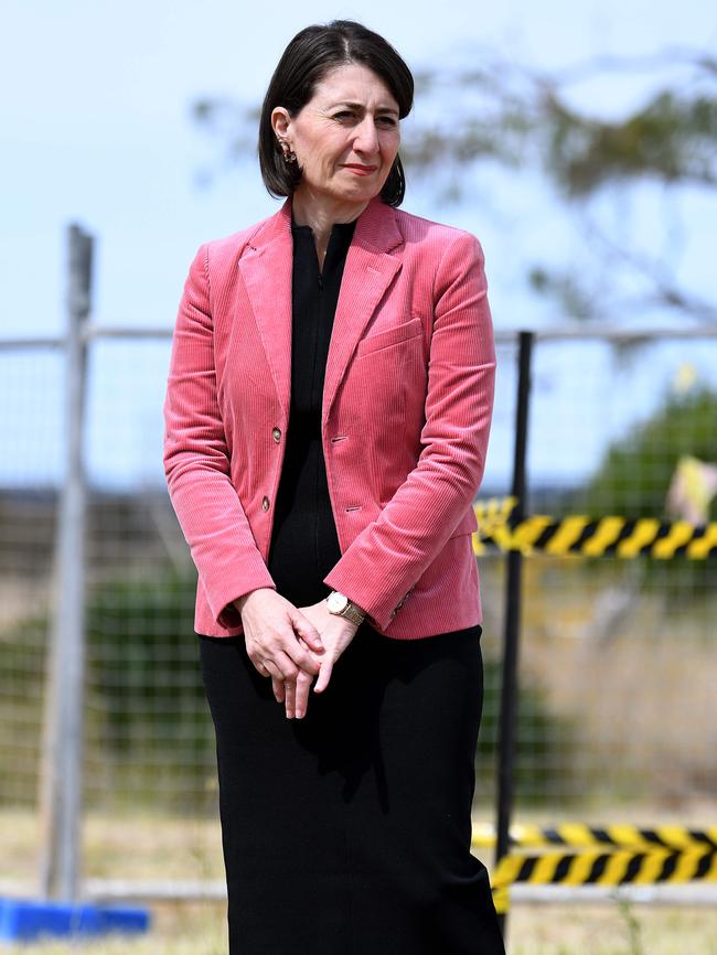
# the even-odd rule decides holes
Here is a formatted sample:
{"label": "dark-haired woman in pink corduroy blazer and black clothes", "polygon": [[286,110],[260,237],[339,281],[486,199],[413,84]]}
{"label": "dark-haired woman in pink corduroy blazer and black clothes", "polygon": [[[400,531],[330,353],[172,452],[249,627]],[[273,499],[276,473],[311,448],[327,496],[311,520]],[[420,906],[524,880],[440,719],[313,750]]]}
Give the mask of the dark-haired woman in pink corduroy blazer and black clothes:
{"label": "dark-haired woman in pink corduroy blazer and black clothes", "polygon": [[179,309],[234,955],[504,951],[470,854],[495,355],[478,240],[397,208],[413,88],[358,23],[298,33],[259,129],[286,201],[200,248]]}

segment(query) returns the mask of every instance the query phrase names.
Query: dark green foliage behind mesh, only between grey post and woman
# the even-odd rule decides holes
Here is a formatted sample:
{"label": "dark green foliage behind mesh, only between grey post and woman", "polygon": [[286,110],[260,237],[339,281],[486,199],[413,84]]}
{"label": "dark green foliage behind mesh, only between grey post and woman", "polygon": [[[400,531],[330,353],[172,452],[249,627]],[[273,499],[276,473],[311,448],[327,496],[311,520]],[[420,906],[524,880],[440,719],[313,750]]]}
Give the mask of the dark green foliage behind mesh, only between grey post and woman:
{"label": "dark green foliage behind mesh, only between grey post and woman", "polygon": [[214,749],[192,626],[195,580],[168,571],[105,581],[89,594],[88,757],[105,775],[110,761],[119,803],[185,812],[206,801]]}

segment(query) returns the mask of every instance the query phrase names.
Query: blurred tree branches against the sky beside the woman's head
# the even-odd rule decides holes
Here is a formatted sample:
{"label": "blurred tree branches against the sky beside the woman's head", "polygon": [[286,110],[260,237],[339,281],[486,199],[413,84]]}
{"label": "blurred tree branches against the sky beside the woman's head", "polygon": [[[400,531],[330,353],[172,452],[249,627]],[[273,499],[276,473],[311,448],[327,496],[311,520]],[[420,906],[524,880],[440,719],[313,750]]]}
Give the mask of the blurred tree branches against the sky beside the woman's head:
{"label": "blurred tree branches against the sky beside the woman's head", "polygon": [[[695,189],[711,198],[717,184],[717,60],[668,49],[632,60],[599,57],[552,74],[474,51],[479,66],[416,73],[417,110],[402,141],[407,173],[446,202],[471,198],[479,168],[537,174],[556,210],[575,222],[587,268],[536,260],[526,269],[532,290],[572,319],[621,320],[650,310],[717,322],[717,301],[678,276],[685,235],[679,200]],[[639,75],[653,77],[641,105],[618,118],[580,107],[576,84]],[[257,106],[197,99],[194,120],[224,142],[231,163],[256,151]],[[428,118],[426,118],[428,117]],[[204,182],[211,181],[204,173]],[[638,190],[651,189],[660,206],[665,247],[621,235]],[[606,215],[607,200],[618,205]],[[640,237],[643,238],[643,237]],[[599,293],[598,293],[599,291]]]}

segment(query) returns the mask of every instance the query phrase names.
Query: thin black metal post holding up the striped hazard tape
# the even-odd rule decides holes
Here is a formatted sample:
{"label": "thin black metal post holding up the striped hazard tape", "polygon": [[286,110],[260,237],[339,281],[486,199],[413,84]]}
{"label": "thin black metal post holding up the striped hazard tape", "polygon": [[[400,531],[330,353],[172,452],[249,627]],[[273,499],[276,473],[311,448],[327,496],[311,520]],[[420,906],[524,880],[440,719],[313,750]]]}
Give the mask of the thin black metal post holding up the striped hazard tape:
{"label": "thin black metal post holding up the striped hazard tape", "polygon": [[[515,449],[513,455],[513,490],[516,505],[511,517],[520,522],[526,513],[527,482],[525,458],[527,451],[528,406],[531,397],[531,356],[533,332],[521,332],[518,340],[517,404],[515,410]],[[510,851],[510,826],[513,812],[515,740],[517,716],[517,662],[521,639],[521,579],[523,555],[520,550],[507,552],[507,578],[505,586],[505,630],[503,641],[503,678],[501,685],[501,716],[499,721],[497,749],[497,822],[495,826],[495,865]],[[503,934],[506,915],[499,914]]]}

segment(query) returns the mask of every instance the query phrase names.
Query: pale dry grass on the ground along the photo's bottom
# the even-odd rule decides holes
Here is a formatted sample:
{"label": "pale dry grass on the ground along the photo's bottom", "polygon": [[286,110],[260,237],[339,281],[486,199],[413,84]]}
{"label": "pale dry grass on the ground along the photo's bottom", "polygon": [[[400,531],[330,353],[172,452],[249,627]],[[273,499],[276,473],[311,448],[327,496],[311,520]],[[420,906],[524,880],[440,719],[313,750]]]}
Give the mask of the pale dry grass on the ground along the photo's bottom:
{"label": "pale dry grass on the ground along the photo's bottom", "polygon": [[[633,806],[602,819],[653,825],[714,822],[717,806],[693,803],[681,812],[651,812]],[[485,818],[485,816],[483,816]],[[524,822],[545,823],[545,813],[522,815]],[[554,822],[554,820],[553,820]],[[0,814],[3,876],[25,883],[32,894],[38,828],[29,813]],[[180,818],[90,817],[85,826],[85,871],[95,878],[222,879],[218,825],[213,820]],[[490,862],[491,854],[480,854]],[[1,890],[0,890],[1,891]],[[225,955],[224,902],[153,903],[152,929],[136,938],[23,945],[23,955]],[[638,927],[630,930],[631,918]],[[636,936],[635,936],[636,932]],[[632,941],[631,941],[632,940]],[[635,941],[636,940],[636,941]],[[387,952],[389,947],[387,947]],[[0,945],[0,953],[18,952]],[[706,909],[600,905],[538,905],[514,903],[509,915],[510,955],[717,955],[717,912]],[[303,953],[297,953],[303,955]],[[382,955],[382,953],[376,953]]]}

